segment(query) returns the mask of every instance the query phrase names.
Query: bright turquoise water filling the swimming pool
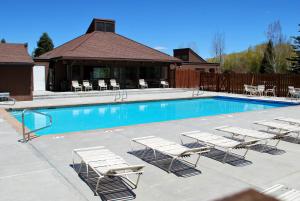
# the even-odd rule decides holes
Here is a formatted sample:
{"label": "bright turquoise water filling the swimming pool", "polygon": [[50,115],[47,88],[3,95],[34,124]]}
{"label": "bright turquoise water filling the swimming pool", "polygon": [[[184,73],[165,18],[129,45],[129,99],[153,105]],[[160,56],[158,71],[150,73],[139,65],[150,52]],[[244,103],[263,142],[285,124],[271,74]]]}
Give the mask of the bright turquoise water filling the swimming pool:
{"label": "bright turquoise water filling the swimming pool", "polygon": [[[213,97],[37,109],[36,111],[38,112],[51,115],[53,124],[49,128],[36,132],[36,134],[48,135],[112,128],[150,122],[263,110],[288,105],[290,104]],[[21,121],[20,111],[13,111],[12,115]],[[43,127],[49,121],[45,116],[30,112],[26,113],[25,120],[25,125],[31,130]]]}

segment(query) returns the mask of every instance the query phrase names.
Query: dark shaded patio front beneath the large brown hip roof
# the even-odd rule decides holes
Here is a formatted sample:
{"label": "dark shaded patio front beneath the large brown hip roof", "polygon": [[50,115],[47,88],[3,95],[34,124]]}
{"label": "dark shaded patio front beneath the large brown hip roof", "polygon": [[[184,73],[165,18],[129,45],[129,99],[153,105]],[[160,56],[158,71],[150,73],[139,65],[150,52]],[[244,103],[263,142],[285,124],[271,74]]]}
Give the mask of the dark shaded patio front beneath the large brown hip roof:
{"label": "dark shaded patio front beneath the large brown hip roof", "polygon": [[98,80],[110,88],[110,79],[115,79],[121,89],[136,89],[139,79],[144,79],[149,88],[159,88],[160,81],[169,82],[172,66],[166,62],[60,60],[50,66],[47,85],[51,91],[70,91],[72,80],[88,80],[98,90]]}

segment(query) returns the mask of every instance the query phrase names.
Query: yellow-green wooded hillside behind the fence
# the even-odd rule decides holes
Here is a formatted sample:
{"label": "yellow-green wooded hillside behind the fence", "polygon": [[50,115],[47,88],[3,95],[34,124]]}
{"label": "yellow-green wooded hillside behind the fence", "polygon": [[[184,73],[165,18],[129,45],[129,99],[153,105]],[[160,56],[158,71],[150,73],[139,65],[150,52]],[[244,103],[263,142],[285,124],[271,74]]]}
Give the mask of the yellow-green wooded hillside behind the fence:
{"label": "yellow-green wooded hillside behind the fence", "polygon": [[[254,47],[249,47],[247,50],[237,53],[224,55],[222,71],[234,71],[239,73],[259,72],[261,61],[264,56],[266,44],[259,44]],[[289,62],[286,58],[290,58],[293,50],[290,44],[283,43],[274,47],[276,53],[276,62],[278,63],[276,72],[284,73],[287,71]],[[210,62],[216,62],[215,58],[208,59]]]}

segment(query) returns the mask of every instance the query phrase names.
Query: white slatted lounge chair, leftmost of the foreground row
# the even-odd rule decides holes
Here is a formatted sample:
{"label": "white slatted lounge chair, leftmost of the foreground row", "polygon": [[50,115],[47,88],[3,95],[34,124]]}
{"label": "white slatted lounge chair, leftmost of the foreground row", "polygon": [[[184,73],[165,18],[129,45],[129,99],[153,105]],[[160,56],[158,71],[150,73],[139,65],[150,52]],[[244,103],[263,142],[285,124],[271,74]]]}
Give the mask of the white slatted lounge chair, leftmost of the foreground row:
{"label": "white slatted lounge chair, leftmost of the foreground row", "polygon": [[[129,165],[123,158],[105,149],[103,146],[74,149],[72,156],[74,169],[75,158],[79,158],[80,160],[80,167],[77,171],[78,175],[86,174],[87,182],[90,180],[97,181],[94,189],[97,195],[101,180],[107,177],[119,177],[126,182],[126,184],[137,188],[140,176],[143,173],[143,165]],[[83,168],[84,165],[85,168]],[[86,169],[86,172],[82,172],[83,169]],[[91,170],[95,172],[97,176],[91,174]],[[132,175],[137,178],[135,180],[130,179],[129,176]]]}

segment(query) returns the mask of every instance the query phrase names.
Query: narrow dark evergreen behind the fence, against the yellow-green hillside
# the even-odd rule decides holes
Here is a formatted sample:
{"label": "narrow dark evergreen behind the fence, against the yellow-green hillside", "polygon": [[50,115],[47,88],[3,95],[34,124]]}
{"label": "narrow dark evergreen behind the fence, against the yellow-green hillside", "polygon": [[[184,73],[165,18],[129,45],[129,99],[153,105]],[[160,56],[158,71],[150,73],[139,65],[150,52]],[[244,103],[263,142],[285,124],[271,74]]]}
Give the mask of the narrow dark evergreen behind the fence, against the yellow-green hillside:
{"label": "narrow dark evergreen behind the fence, against the yellow-green hillside", "polygon": [[269,40],[261,61],[260,73],[274,73],[274,47],[273,42]]}

